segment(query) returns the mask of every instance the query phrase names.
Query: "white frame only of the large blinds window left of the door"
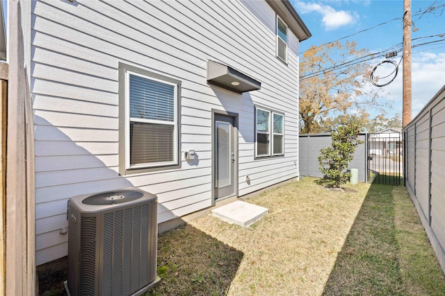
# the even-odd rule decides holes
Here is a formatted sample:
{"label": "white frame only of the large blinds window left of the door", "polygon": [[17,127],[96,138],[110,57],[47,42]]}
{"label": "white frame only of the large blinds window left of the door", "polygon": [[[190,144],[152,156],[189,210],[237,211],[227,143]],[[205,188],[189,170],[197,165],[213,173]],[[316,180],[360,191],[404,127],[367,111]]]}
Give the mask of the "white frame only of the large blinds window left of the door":
{"label": "white frame only of the large blinds window left of the door", "polygon": [[[164,83],[166,85],[172,85],[175,87],[175,102],[174,102],[174,121],[159,121],[152,119],[134,119],[130,117],[130,75],[139,76],[148,80],[153,80],[157,82]],[[125,168],[127,170],[134,170],[140,168],[154,168],[157,166],[175,166],[178,164],[178,114],[177,114],[177,102],[178,102],[178,85],[172,82],[168,82],[165,80],[153,78],[150,76],[146,76],[140,73],[136,73],[133,71],[125,70]],[[146,164],[130,164],[130,123],[134,122],[143,122],[143,123],[153,123],[160,125],[173,125],[174,126],[174,134],[173,134],[173,160],[172,162],[152,162]]]}

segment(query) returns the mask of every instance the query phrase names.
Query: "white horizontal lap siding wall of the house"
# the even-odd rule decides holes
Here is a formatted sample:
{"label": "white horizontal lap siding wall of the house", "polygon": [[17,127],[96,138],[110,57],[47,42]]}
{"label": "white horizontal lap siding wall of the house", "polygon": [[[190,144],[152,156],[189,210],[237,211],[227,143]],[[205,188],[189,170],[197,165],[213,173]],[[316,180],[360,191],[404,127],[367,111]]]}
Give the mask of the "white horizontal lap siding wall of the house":
{"label": "white horizontal lap siding wall of the house", "polygon": [[[67,255],[67,200],[137,186],[158,195],[162,223],[211,206],[211,110],[238,114],[238,194],[298,177],[298,40],[275,58],[265,1],[33,1],[37,265]],[[242,96],[207,85],[206,62],[261,82]],[[171,171],[118,174],[118,64],[181,80],[181,150]],[[254,160],[254,105],[285,115],[285,155]],[[250,184],[245,182],[249,175]]]}

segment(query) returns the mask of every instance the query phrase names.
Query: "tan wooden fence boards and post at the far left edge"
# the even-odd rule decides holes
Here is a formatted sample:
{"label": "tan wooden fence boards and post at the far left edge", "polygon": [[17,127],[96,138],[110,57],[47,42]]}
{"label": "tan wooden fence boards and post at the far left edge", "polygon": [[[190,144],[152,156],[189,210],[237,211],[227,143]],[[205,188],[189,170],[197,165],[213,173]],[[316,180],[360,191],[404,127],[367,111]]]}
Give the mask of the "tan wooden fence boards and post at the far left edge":
{"label": "tan wooden fence boards and post at the far left edge", "polygon": [[22,30],[22,24],[25,24],[22,14],[31,11],[31,4],[31,1],[8,1],[8,64],[1,62],[0,66],[3,181],[0,199],[0,255],[3,257],[0,296],[36,294],[35,153],[29,89],[31,66],[26,64],[24,57],[26,42]]}

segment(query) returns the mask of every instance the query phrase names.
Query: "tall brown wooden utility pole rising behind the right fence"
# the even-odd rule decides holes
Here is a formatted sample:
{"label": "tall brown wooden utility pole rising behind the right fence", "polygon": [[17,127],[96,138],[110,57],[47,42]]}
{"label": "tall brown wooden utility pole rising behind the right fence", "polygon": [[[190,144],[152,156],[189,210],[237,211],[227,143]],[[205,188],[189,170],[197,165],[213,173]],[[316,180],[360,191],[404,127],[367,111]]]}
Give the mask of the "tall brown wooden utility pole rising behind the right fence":
{"label": "tall brown wooden utility pole rising behind the right fence", "polygon": [[403,127],[411,121],[411,0],[403,0]]}

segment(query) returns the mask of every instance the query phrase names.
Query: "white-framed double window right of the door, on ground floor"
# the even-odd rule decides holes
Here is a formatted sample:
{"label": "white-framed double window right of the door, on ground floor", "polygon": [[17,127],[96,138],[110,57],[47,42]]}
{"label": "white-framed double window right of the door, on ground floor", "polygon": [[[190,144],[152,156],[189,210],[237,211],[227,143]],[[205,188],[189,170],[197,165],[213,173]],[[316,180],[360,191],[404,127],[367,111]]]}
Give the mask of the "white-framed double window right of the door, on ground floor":
{"label": "white-framed double window right of the door, on ground floor", "polygon": [[256,156],[284,155],[284,116],[256,109]]}

